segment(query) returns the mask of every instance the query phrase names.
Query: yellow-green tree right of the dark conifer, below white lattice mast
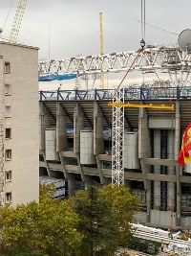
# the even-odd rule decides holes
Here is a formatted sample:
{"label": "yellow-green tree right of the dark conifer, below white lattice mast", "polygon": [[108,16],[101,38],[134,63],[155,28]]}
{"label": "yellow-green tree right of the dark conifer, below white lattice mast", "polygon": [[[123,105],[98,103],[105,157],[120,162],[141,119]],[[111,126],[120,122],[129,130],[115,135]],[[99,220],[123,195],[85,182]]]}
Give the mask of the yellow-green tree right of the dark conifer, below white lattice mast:
{"label": "yellow-green tree right of the dark conifer, below white lattice mast", "polygon": [[125,186],[113,187],[112,184],[101,188],[100,195],[108,200],[115,214],[119,244],[128,244],[132,237],[130,222],[140,206],[137,196],[132,196]]}

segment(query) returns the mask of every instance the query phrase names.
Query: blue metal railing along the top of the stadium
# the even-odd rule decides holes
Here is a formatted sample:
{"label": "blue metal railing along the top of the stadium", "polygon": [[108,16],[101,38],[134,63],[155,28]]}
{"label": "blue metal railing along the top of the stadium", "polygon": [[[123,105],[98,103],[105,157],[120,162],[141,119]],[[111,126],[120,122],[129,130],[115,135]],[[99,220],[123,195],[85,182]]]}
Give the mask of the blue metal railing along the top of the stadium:
{"label": "blue metal railing along the top of the stadium", "polygon": [[[124,100],[191,99],[190,87],[127,87]],[[39,101],[112,101],[112,89],[39,91]]]}

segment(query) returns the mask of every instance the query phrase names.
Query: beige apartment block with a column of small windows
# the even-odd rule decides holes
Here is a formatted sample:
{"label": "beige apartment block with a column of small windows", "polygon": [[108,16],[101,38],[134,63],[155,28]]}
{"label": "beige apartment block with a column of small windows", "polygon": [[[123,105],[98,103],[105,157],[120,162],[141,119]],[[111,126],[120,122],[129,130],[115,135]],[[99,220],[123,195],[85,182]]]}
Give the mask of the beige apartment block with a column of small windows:
{"label": "beige apartment block with a column of small windows", "polygon": [[0,204],[38,199],[38,49],[0,42]]}

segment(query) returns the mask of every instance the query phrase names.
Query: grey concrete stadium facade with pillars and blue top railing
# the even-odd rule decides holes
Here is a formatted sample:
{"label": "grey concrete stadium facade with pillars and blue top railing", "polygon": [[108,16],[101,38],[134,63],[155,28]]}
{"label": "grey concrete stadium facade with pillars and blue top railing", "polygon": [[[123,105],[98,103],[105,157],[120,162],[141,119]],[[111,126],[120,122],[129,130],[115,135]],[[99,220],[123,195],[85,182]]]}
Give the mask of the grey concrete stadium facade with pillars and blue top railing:
{"label": "grey concrete stadium facade with pillars and blue top railing", "polygon": [[[142,209],[135,221],[191,226],[191,171],[179,166],[181,137],[190,122],[191,87],[171,87],[175,110],[125,108],[125,184]],[[111,182],[111,90],[39,93],[40,175],[65,178],[69,197],[88,184]],[[171,105],[163,89],[125,89],[125,102]]]}

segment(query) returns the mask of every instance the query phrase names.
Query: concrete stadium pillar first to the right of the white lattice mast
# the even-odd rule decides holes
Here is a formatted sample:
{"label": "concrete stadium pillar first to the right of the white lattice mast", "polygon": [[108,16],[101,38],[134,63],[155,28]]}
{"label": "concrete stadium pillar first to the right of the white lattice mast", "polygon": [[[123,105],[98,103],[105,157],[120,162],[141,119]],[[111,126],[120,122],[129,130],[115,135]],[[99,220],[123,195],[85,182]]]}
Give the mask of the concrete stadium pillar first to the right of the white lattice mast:
{"label": "concrete stadium pillar first to the right of the white lattice mast", "polygon": [[144,157],[150,156],[149,149],[149,129],[148,117],[144,108],[139,108],[138,116],[138,158],[142,170],[142,178],[144,182],[144,189],[147,197],[147,222],[150,222],[151,216],[151,181],[147,180],[146,174],[150,173],[150,167],[144,164]]}

